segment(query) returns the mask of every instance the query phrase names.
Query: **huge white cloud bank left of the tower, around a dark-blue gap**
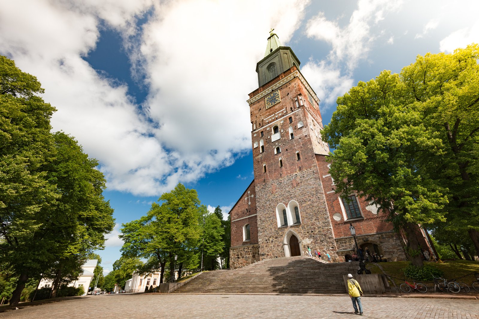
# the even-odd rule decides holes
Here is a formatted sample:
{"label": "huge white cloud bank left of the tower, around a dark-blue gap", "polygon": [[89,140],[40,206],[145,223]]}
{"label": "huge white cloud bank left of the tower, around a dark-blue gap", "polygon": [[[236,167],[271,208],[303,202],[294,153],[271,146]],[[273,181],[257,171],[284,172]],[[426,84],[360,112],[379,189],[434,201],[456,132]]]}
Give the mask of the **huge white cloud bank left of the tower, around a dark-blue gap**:
{"label": "huge white cloud bank left of the tower, around a dark-blue gap", "polygon": [[[109,189],[158,195],[231,165],[251,148],[246,99],[257,86],[254,66],[267,32],[274,27],[286,43],[307,4],[7,1],[0,53],[38,77],[45,100],[58,109],[54,130],[75,136],[100,160]],[[137,29],[146,11],[149,21]],[[102,21],[120,32],[133,75],[147,78],[146,117],[125,85],[81,58],[95,50]]]}

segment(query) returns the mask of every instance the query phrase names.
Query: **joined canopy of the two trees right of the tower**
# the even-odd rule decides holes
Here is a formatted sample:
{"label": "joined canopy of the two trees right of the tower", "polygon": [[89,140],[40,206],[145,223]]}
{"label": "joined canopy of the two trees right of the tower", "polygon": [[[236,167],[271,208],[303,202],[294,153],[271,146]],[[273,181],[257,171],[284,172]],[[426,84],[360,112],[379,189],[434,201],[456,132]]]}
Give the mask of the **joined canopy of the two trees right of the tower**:
{"label": "joined canopy of the two trees right of the tower", "polygon": [[359,82],[322,131],[336,149],[336,192],[357,191],[387,211],[419,265],[415,224],[459,218],[473,241],[478,233],[478,57],[477,45],[428,53],[400,74]]}

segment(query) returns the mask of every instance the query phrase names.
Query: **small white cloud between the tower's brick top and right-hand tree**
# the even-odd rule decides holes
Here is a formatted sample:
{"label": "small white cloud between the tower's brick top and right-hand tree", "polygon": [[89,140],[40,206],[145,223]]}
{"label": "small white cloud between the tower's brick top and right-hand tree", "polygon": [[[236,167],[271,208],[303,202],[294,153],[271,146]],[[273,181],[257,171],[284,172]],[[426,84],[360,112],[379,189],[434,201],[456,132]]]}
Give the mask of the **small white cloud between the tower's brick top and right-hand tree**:
{"label": "small white cloud between the tower's brick top and right-hand tree", "polygon": [[[349,91],[354,84],[354,80],[351,77],[341,75],[339,69],[335,69],[325,61],[319,63],[308,61],[301,68],[301,73],[308,79],[308,83],[316,94],[321,96],[321,102],[323,102],[319,104],[321,111],[334,104],[338,96],[342,96]],[[325,104],[326,108],[324,108]]]}

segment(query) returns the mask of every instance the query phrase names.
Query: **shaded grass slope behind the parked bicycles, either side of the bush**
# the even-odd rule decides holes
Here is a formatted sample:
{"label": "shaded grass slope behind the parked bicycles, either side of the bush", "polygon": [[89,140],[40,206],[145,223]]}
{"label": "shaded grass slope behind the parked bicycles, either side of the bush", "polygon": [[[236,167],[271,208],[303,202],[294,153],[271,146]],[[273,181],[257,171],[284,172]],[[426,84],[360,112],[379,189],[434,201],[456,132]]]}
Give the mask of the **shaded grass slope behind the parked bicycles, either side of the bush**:
{"label": "shaded grass slope behind the parked bicycles, either side of the bush", "polygon": [[[402,278],[404,277],[404,273],[402,272],[402,268],[408,266],[408,264],[409,262],[407,261],[396,261],[396,262],[378,263],[377,265],[381,266],[384,269],[384,273],[386,273],[389,276],[395,277],[393,279],[396,285],[399,286],[400,284],[403,283]],[[479,262],[477,261],[447,260],[444,263],[437,263],[437,264],[435,262],[424,262],[424,265],[432,265],[441,269],[444,272],[444,277],[447,280],[457,279],[458,281],[464,282],[468,284],[469,286],[471,286],[470,284],[476,280],[474,275],[471,273],[479,272]],[[373,263],[367,263],[366,267],[369,270],[371,270],[371,273],[373,274],[383,274],[383,271],[379,269],[379,267]],[[468,275],[468,276],[465,276],[465,275]]]}

